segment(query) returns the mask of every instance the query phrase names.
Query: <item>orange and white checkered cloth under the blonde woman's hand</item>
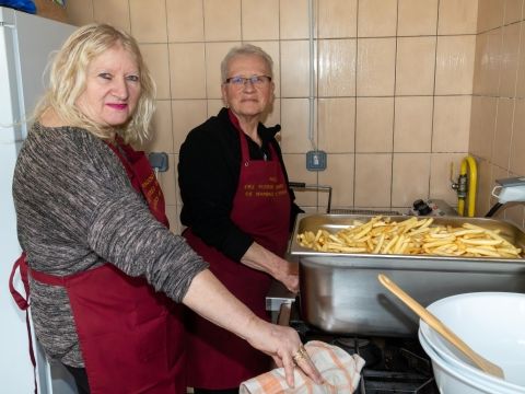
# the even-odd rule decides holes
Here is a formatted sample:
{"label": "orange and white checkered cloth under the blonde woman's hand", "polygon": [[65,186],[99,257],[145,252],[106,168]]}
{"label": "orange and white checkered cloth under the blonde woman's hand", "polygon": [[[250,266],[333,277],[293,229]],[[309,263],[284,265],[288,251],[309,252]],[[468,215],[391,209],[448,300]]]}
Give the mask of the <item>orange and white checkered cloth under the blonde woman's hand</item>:
{"label": "orange and white checkered cloth under the blonde woman's hand", "polygon": [[353,393],[361,379],[364,360],[350,356],[341,348],[319,340],[311,340],[305,346],[310,358],[325,380],[324,384],[315,384],[299,368],[294,370],[295,387],[290,389],[284,378],[284,369],[277,368],[241,384],[241,394],[324,394]]}

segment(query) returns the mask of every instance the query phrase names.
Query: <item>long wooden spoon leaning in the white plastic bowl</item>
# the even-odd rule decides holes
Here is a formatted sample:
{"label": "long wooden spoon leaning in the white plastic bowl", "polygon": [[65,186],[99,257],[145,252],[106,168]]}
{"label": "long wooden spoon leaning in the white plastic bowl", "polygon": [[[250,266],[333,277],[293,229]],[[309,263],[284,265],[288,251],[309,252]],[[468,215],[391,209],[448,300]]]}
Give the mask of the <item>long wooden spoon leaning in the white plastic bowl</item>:
{"label": "long wooden spoon leaning in the white plastic bowl", "polygon": [[399,300],[401,300],[408,308],[410,308],[416,314],[423,320],[429,326],[440,333],[446,340],[459,349],[465,356],[467,356],[472,362],[482,371],[494,375],[497,378],[504,379],[503,370],[490,362],[486,358],[474,351],[467,344],[465,344],[456,334],[454,334],[446,325],[443,324],[436,316],[434,316],[423,305],[402,291],[396,283],[394,283],[387,276],[380,274],[377,276],[381,285],[392,291]]}

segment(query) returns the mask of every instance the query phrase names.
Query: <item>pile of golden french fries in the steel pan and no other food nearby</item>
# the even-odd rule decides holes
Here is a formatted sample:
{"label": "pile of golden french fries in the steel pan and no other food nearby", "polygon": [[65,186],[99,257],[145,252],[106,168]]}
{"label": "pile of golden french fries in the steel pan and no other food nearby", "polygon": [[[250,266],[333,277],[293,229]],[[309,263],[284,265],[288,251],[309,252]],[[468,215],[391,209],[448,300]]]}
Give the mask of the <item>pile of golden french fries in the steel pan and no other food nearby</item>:
{"label": "pile of golden french fries in the steel pan and no other food nearby", "polygon": [[464,223],[431,225],[433,218],[396,222],[381,216],[368,222],[355,221],[353,227],[332,234],[320,229],[298,234],[303,247],[318,252],[409,254],[438,256],[469,256],[522,258],[522,250],[499,235],[499,230]]}

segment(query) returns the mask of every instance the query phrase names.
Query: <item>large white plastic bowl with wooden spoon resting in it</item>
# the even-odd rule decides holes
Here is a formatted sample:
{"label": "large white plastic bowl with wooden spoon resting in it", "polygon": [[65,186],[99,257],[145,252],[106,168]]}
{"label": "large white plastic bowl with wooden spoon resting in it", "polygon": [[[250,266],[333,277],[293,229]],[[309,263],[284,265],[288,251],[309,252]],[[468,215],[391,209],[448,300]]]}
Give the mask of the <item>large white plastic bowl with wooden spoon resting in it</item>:
{"label": "large white plastic bowl with wooden spoon resting in it", "polygon": [[480,371],[420,321],[420,343],[432,359],[442,393],[525,393],[525,294],[458,294],[439,300],[428,309],[474,350],[499,364],[505,374],[505,380],[501,380]]}

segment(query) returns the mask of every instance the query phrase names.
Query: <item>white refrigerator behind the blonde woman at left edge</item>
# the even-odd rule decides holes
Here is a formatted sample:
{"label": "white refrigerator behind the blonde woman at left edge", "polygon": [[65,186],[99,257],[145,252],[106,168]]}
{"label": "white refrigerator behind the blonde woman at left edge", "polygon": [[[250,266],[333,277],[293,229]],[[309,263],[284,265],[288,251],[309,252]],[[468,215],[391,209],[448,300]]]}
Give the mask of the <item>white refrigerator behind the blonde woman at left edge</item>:
{"label": "white refrigerator behind the blonde woman at left edge", "polygon": [[[1,393],[25,394],[32,393],[34,387],[33,366],[27,352],[25,312],[18,309],[8,288],[12,263],[21,252],[11,193],[14,163],[27,132],[23,120],[31,115],[44,91],[43,73],[49,55],[61,46],[74,28],[65,23],[0,7]],[[16,278],[16,287],[23,289],[20,278]],[[39,393],[51,393],[52,382],[44,379],[43,355],[39,354]],[[46,368],[49,370],[48,366]],[[55,392],[68,392],[68,389]]]}

